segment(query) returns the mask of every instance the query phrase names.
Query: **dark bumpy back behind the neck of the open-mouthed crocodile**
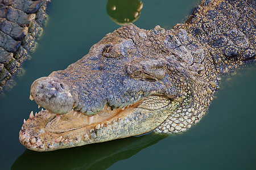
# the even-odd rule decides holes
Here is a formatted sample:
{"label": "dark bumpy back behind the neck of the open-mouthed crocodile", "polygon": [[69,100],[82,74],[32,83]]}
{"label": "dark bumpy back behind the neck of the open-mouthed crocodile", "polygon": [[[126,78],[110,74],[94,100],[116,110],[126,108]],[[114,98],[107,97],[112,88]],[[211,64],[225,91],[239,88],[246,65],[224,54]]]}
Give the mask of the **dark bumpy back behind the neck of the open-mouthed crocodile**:
{"label": "dark bumpy back behind the neck of the open-mouthed crocodile", "polygon": [[247,61],[255,61],[255,9],[254,0],[204,1],[182,27],[204,46],[217,71],[225,73]]}

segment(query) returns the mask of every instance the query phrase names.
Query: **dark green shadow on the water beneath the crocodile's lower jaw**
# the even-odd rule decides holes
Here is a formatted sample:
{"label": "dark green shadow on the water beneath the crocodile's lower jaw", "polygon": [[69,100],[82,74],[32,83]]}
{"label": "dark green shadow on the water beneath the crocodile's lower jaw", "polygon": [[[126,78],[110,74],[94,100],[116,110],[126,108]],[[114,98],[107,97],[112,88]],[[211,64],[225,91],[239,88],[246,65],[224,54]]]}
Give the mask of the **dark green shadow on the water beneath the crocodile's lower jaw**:
{"label": "dark green shadow on the water beneath the crocodile's lower jaw", "polygon": [[106,169],[167,136],[150,133],[52,152],[26,150],[16,159],[11,169]]}

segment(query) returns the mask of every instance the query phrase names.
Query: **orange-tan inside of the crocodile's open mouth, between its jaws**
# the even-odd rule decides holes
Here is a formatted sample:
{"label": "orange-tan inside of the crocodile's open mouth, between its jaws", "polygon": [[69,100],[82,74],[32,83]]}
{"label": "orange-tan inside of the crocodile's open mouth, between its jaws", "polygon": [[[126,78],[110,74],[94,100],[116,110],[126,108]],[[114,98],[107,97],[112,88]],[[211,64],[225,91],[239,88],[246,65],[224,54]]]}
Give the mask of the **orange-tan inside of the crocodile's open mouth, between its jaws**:
{"label": "orange-tan inside of the crocodile's open mouth, between its jaws", "polygon": [[63,115],[51,114],[46,110],[47,118],[51,120],[46,124],[46,130],[59,134],[88,126],[91,128],[92,126],[92,129],[90,129],[90,132],[92,132],[94,129],[98,130],[105,125],[111,124],[113,121],[121,120],[122,117],[127,116],[133,109],[137,108],[140,103],[141,101],[138,101],[119,109],[105,106],[101,112],[94,116],[86,116],[85,114],[73,111],[73,109]]}

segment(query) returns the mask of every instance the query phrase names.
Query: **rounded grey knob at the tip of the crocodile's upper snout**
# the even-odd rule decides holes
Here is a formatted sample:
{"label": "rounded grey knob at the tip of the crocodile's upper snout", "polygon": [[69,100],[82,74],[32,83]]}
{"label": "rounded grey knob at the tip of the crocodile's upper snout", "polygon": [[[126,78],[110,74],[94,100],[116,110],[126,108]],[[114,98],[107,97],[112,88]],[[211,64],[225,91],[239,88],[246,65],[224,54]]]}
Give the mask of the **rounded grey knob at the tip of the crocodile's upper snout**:
{"label": "rounded grey knob at the tip of the crocodile's upper snout", "polygon": [[55,114],[68,113],[77,101],[76,92],[67,82],[51,76],[35,80],[30,95],[38,105]]}

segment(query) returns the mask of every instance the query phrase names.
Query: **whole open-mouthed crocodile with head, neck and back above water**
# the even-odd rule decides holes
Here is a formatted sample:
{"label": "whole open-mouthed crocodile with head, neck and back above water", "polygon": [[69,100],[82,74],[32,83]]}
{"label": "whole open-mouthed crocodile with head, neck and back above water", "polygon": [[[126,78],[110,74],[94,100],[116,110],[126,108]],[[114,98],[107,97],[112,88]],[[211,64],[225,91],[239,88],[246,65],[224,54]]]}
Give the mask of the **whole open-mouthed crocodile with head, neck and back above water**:
{"label": "whole open-mouthed crocodile with head, neck and back above water", "polygon": [[39,107],[19,131],[53,151],[154,133],[180,133],[207,112],[220,76],[255,64],[256,2],[205,0],[166,30],[125,25],[65,70],[35,80]]}

